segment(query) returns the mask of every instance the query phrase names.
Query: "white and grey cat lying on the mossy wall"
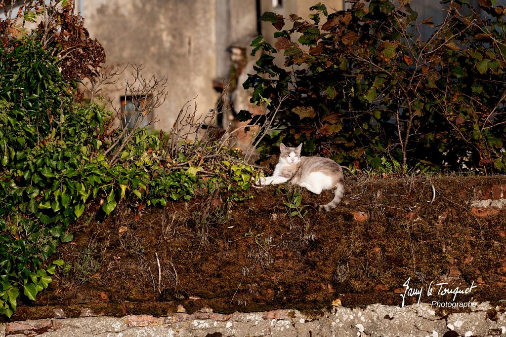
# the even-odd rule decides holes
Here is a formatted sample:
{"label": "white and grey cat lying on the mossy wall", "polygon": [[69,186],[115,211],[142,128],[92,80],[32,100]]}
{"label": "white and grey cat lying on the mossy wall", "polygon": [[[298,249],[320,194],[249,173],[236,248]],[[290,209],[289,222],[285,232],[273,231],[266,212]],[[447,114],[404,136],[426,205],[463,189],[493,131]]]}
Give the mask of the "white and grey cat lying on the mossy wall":
{"label": "white and grey cat lying on the mossy wall", "polygon": [[329,158],[301,157],[302,144],[297,148],[279,146],[279,161],[270,177],[261,178],[261,185],[277,185],[291,182],[306,187],[314,194],[335,188],[334,199],[326,205],[315,205],[318,211],[330,211],[337,207],[345,194],[344,175],[341,166]]}

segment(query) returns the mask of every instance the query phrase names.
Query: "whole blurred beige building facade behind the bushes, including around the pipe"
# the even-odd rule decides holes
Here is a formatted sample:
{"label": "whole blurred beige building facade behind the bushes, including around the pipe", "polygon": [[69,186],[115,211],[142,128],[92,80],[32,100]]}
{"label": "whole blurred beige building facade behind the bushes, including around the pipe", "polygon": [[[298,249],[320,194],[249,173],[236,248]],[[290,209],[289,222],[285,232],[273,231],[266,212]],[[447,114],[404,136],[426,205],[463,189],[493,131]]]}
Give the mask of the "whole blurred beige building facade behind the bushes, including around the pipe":
{"label": "whole blurred beige building facade behind the bushes, including around the pipe", "polygon": [[[258,22],[265,11],[309,14],[314,0],[76,0],[91,37],[103,44],[107,66],[142,64],[146,78],[166,77],[167,98],[153,111],[155,129],[172,127],[181,107],[195,98],[198,114],[215,107],[220,92],[213,81],[228,81],[230,46],[247,46],[259,32],[272,37],[270,23]],[[343,0],[324,2],[341,10]],[[273,39],[273,38],[272,38]],[[116,106],[128,107],[123,72],[102,88]],[[126,104],[125,104],[126,103]]]}

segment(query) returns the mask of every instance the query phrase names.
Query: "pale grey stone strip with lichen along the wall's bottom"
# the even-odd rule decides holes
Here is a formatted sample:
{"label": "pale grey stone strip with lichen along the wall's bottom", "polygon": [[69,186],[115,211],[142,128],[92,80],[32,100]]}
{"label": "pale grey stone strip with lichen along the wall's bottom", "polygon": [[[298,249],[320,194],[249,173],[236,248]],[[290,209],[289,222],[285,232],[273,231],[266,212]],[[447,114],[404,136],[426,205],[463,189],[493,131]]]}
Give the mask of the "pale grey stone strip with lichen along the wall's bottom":
{"label": "pale grey stone strip with lichen along the wall's bottom", "polygon": [[[181,308],[183,311],[183,308]],[[55,317],[61,309],[55,309]],[[302,313],[275,310],[262,313],[218,314],[203,308],[193,314],[164,317],[128,315],[26,320],[0,324],[0,337],[20,336],[504,336],[504,307],[479,304],[468,312],[436,312],[429,304],[399,307],[333,307]]]}

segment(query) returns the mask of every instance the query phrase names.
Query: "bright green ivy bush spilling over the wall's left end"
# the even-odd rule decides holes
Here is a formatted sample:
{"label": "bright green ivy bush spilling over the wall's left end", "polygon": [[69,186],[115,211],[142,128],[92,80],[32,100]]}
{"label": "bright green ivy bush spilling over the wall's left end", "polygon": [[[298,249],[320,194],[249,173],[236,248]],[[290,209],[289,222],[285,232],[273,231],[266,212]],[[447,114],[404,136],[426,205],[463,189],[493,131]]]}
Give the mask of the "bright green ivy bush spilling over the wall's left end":
{"label": "bright green ivy bush spilling over the wall's left end", "polygon": [[[121,203],[163,207],[189,200],[205,186],[231,190],[238,199],[249,188],[255,170],[241,163],[237,151],[203,137],[188,141],[171,133],[113,129],[112,112],[74,102],[75,81],[62,75],[61,59],[40,35],[4,40],[0,314],[10,317],[21,294],[35,300],[48,287],[64,265],[51,256],[72,240],[69,226],[83,214],[109,215]],[[118,154],[114,160],[112,153]]]}

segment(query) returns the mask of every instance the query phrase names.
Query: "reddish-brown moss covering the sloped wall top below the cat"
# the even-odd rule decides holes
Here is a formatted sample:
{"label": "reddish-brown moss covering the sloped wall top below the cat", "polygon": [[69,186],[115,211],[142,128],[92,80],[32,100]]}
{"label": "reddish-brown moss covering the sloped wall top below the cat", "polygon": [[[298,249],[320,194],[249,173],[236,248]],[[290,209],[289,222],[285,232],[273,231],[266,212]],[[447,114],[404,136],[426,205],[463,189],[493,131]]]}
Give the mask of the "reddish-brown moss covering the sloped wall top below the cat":
{"label": "reddish-brown moss covering the sloped wall top below the cat", "polygon": [[[176,311],[178,304],[188,313],[205,305],[220,313],[311,311],[327,308],[338,297],[350,307],[399,305],[394,290],[407,277],[413,284],[426,285],[447,277],[450,267],[456,266],[460,275],[453,278],[455,284],[476,284],[478,277],[485,282],[473,291],[474,301],[502,298],[506,238],[500,230],[506,227],[505,217],[477,218],[466,205],[478,187],[506,185],[506,178],[432,178],[437,190],[432,204],[427,203],[432,199],[427,181],[408,179],[374,179],[366,186],[348,181],[351,191],[342,205],[329,213],[310,211],[304,220],[285,214],[284,199],[275,195],[276,187],[266,187],[256,192],[254,200],[232,206],[227,223],[207,226],[205,245],[197,232],[198,219],[192,218],[203,204],[209,205],[205,195],[173,203],[166,210],[147,209],[138,219],[118,210],[115,219],[129,223],[132,239],[139,240],[144,253],[121,246],[116,220],[92,221],[86,233],[74,234],[75,245],[62,245],[58,254],[72,263],[88,247],[90,237],[96,238],[105,251],[99,277],[80,285],[69,275],[59,275],[61,281],[41,296],[44,304],[64,308],[67,316],[80,315],[81,307],[110,315],[122,315],[126,309],[128,314],[162,316]],[[383,191],[379,201],[378,190]],[[312,201],[309,192],[303,190],[302,195],[303,200]],[[226,200],[226,196],[221,198]],[[357,211],[367,212],[370,218],[354,220]],[[277,214],[276,220],[272,213]],[[316,239],[304,241],[309,233]],[[272,237],[271,245],[265,244],[267,237]],[[259,252],[272,262],[261,264],[255,257]],[[473,259],[465,262],[466,257]],[[348,268],[340,280],[334,278],[339,265]],[[69,288],[69,284],[74,286]],[[109,294],[109,302],[99,302],[102,291]],[[16,315],[53,315],[35,305],[22,303]]]}

